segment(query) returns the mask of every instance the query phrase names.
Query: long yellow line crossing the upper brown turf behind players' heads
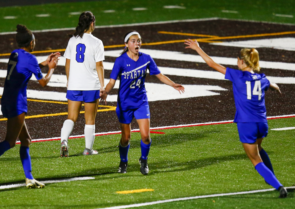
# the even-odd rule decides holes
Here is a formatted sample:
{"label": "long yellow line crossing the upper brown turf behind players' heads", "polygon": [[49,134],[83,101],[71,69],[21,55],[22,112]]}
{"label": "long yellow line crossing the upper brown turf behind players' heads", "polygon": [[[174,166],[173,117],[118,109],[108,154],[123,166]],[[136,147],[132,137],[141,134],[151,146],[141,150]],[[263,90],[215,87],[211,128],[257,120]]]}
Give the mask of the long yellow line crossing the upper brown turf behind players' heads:
{"label": "long yellow line crossing the upper brown turf behind players' heads", "polygon": [[[253,34],[253,35],[225,36],[225,37],[210,37],[210,38],[199,38],[199,39],[196,39],[196,40],[199,41],[199,42],[211,43],[209,41],[212,41],[212,40],[262,37],[262,36],[275,36],[275,35],[288,35],[288,34],[295,34],[295,31],[278,32],[278,33],[262,33],[262,34]],[[201,35],[201,34],[195,34],[195,35]],[[181,42],[184,42],[184,40],[172,40],[172,41],[159,41],[159,42],[151,42],[151,43],[142,43],[142,45],[143,46],[144,45],[160,45],[160,44],[181,43]],[[104,48],[116,48],[116,47],[124,47],[124,45],[120,44],[120,45],[104,46]],[[32,53],[48,53],[48,52],[58,52],[58,51],[62,52],[62,51],[65,51],[65,49],[34,51]],[[10,53],[0,54],[0,56],[6,56],[6,55],[10,55]]]}

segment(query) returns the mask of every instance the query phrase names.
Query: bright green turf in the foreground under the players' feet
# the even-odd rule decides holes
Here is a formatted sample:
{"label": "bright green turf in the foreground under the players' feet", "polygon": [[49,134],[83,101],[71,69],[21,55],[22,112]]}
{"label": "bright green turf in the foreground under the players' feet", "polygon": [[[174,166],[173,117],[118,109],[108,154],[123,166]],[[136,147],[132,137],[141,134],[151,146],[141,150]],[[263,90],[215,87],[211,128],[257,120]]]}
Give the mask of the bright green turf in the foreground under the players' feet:
{"label": "bright green turf in the foreground under the players' feet", "polygon": [[[269,128],[294,124],[295,118],[269,120]],[[290,126],[290,125],[289,125]],[[127,174],[118,174],[120,134],[96,138],[97,156],[83,156],[84,138],[70,139],[70,157],[60,158],[60,141],[30,146],[33,175],[52,180],[90,176],[95,179],[47,184],[43,189],[0,190],[1,208],[104,208],[179,197],[268,189],[238,139],[236,125],[206,125],[160,130],[151,134],[150,173],[140,173],[140,135],[132,133]],[[275,174],[286,187],[295,183],[294,130],[269,130],[263,142]],[[1,184],[24,183],[19,145],[0,158]],[[117,194],[117,191],[153,189]],[[294,208],[294,190],[286,199],[277,191],[179,201],[140,208]]]}

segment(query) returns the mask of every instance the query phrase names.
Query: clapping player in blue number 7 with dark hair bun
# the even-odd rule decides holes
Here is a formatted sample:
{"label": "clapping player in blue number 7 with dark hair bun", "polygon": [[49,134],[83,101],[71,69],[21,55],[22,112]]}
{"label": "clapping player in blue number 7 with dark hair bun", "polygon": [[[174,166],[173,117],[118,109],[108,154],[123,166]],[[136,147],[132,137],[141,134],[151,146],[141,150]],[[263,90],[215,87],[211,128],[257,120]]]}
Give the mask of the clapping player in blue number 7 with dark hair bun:
{"label": "clapping player in blue number 7 with dark hair bun", "polygon": [[[16,41],[19,49],[10,54],[1,98],[1,111],[3,117],[7,118],[7,132],[5,140],[0,143],[0,156],[5,151],[13,148],[17,139],[19,139],[21,142],[19,156],[26,176],[26,186],[28,188],[41,188],[45,185],[35,180],[32,175],[29,153],[32,138],[24,121],[28,112],[27,84],[32,74],[34,74],[39,84],[42,87],[46,86],[57,66],[60,53],[51,53],[46,61],[38,64],[35,55],[30,54],[35,47],[34,34],[25,25],[17,25],[16,31]],[[43,77],[40,68],[46,65],[48,65],[49,70],[47,75]]]}

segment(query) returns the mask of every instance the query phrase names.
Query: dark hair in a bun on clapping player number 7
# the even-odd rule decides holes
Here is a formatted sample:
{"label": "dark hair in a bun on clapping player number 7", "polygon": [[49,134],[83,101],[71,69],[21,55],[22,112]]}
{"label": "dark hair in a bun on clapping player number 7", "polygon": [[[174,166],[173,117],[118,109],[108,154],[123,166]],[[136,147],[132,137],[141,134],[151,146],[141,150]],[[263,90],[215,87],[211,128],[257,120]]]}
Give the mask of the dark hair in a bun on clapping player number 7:
{"label": "dark hair in a bun on clapping player number 7", "polygon": [[32,40],[35,39],[32,31],[27,29],[25,25],[17,25],[16,41],[19,48],[30,46]]}

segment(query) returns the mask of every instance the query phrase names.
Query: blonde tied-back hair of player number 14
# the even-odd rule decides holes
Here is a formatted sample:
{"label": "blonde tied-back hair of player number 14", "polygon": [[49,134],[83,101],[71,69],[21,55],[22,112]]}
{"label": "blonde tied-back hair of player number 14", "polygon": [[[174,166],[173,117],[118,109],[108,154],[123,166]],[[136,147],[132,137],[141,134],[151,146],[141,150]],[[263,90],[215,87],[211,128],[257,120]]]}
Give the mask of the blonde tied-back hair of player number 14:
{"label": "blonde tied-back hair of player number 14", "polygon": [[241,58],[246,63],[246,65],[252,68],[253,71],[259,72],[259,54],[258,51],[254,48],[243,48],[241,49]]}

